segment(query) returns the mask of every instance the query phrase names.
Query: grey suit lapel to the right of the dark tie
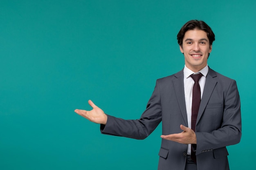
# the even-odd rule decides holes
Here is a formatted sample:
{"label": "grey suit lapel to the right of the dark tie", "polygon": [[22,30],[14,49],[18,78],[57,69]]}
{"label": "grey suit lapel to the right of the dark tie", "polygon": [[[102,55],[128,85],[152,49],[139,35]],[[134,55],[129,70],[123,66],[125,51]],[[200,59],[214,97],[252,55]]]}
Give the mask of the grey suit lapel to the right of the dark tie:
{"label": "grey suit lapel to the right of the dark tie", "polygon": [[216,77],[216,72],[213,71],[211,68],[209,68],[208,74],[206,76],[205,85],[204,85],[204,92],[202,95],[202,100],[200,103],[199,111],[198,111],[198,118],[196,121],[196,124],[198,124],[198,121],[202,117],[202,114],[204,113],[204,109],[207,106],[207,103],[211,97],[211,94],[213,92],[213,89],[216,86],[217,81],[213,79]]}

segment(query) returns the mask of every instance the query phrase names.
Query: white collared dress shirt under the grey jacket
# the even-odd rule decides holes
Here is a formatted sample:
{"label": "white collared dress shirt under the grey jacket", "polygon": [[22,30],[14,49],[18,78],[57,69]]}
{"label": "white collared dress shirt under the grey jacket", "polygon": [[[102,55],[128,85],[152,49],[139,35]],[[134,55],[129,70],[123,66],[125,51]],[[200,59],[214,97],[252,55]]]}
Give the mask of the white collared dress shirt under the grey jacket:
{"label": "white collared dress shirt under the grey jacket", "polygon": [[[201,99],[202,99],[202,95],[203,95],[203,91],[204,91],[204,84],[205,84],[205,80],[206,80],[206,75],[209,71],[209,67],[208,65],[205,66],[204,68],[202,68],[200,71],[198,72],[193,72],[191,71],[189,68],[186,67],[186,65],[184,66],[184,93],[185,93],[185,102],[186,102],[186,114],[187,114],[187,118],[188,118],[188,126],[189,128],[191,128],[191,115],[192,115],[192,91],[193,91],[193,85],[194,85],[194,80],[192,79],[192,77],[190,77],[191,74],[198,74],[198,73],[202,73],[202,77],[199,80],[199,85],[200,85],[200,89],[201,89]],[[188,151],[187,151],[188,155],[191,155],[191,144],[189,144],[188,146]]]}

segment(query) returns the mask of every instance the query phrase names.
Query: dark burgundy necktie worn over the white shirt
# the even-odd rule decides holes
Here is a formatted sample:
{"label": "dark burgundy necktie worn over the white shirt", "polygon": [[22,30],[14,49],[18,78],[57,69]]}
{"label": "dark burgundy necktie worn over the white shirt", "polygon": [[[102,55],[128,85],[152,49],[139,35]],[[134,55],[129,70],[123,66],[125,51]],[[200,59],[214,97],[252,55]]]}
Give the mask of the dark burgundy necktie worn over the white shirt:
{"label": "dark burgundy necktie worn over the white shirt", "polygon": [[[198,117],[198,110],[201,102],[201,90],[199,85],[199,79],[202,77],[202,73],[192,74],[190,75],[190,77],[192,77],[192,79],[195,82],[193,86],[193,93],[192,93],[192,115],[191,115],[191,129],[194,130],[195,132],[195,124],[196,124],[196,119]],[[193,145],[195,144],[191,145],[191,158],[193,159],[193,161],[196,162],[195,152],[192,149]]]}

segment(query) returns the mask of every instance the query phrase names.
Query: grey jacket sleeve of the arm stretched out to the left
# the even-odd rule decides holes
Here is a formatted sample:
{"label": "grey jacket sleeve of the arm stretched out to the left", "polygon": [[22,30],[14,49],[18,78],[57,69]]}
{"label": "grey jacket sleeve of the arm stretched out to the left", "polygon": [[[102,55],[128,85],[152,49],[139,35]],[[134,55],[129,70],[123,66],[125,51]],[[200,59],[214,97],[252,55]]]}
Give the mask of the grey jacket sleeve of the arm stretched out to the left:
{"label": "grey jacket sleeve of the arm stretched out to the left", "polygon": [[124,120],[108,115],[106,125],[101,125],[102,134],[145,139],[162,121],[161,100],[158,80],[146,110],[140,119]]}

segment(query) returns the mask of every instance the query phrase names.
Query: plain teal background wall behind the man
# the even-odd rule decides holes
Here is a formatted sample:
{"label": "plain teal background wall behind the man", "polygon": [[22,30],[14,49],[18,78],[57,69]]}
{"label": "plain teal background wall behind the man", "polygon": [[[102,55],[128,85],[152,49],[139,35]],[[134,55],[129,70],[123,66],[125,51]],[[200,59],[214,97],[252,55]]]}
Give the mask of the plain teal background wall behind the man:
{"label": "plain teal background wall behind the man", "polygon": [[[74,109],[88,99],[137,119],[155,80],[180,71],[191,19],[216,34],[208,64],[236,79],[243,135],[231,170],[254,169],[255,0],[0,0],[0,169],[157,169],[161,127],[145,140],[101,135]],[[254,55],[253,55],[254,52]]]}

